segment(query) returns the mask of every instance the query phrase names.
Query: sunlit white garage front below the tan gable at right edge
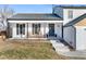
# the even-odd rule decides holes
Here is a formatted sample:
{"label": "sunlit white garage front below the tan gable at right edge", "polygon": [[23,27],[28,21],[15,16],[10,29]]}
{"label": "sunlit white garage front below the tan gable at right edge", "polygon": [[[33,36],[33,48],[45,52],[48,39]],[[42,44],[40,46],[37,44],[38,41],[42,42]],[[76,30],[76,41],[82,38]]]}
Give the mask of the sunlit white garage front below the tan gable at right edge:
{"label": "sunlit white garage front below the tan gable at right edge", "polygon": [[86,26],[76,26],[76,50],[86,50]]}

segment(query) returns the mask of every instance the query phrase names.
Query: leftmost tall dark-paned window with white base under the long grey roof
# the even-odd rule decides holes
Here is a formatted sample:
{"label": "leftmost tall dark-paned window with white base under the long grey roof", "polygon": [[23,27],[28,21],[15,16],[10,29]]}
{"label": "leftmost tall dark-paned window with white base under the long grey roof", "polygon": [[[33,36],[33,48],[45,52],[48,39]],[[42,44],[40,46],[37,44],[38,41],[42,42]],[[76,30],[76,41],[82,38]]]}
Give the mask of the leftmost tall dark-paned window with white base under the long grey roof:
{"label": "leftmost tall dark-paned window with white base under the long grey roof", "polygon": [[25,24],[16,24],[16,35],[20,38],[25,37]]}

